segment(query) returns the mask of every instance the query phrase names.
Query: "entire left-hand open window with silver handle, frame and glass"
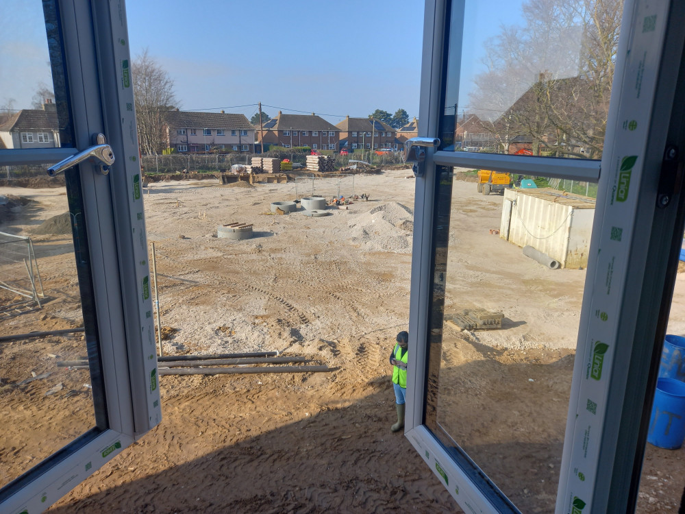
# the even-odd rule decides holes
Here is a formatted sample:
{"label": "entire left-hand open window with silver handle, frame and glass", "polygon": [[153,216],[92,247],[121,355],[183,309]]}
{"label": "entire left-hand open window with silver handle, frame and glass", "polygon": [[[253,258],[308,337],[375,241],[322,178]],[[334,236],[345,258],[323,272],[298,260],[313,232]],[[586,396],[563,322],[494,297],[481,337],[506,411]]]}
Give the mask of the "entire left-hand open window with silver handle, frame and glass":
{"label": "entire left-hand open window with silver handle, frame and glass", "polygon": [[[0,510],[18,513],[47,508],[161,411],[125,18],[117,3],[71,0],[1,10],[3,48],[23,51],[1,58],[14,104],[2,113],[0,166],[42,168],[51,186],[0,206],[0,316],[12,328],[0,343]],[[24,133],[39,136],[29,146]],[[87,149],[90,159],[48,177]],[[66,276],[53,265],[64,260]]]}

